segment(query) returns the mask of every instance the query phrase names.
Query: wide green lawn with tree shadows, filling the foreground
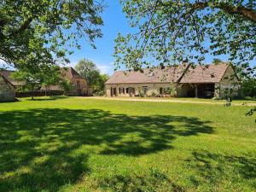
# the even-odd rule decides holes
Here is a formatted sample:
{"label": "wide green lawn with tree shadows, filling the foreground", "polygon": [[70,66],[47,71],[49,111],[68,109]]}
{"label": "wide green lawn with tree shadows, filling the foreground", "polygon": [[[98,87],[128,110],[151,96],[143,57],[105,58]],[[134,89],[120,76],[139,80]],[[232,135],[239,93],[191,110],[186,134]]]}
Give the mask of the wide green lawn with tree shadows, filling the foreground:
{"label": "wide green lawn with tree shadows, filling the foreground", "polygon": [[0,191],[255,191],[249,109],[65,96],[0,103]]}

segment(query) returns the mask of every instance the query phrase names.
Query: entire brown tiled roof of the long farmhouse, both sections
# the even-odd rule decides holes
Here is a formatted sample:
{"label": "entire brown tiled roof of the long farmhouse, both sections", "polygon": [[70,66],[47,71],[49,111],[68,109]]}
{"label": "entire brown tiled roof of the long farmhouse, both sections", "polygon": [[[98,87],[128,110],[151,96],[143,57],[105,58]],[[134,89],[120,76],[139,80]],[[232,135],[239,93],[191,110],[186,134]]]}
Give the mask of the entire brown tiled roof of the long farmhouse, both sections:
{"label": "entire brown tiled roof of the long farmhouse, both sections", "polygon": [[105,84],[144,84],[144,83],[215,83],[219,82],[227,67],[226,63],[208,66],[179,65],[165,69],[143,69],[137,71],[119,71],[113,73]]}

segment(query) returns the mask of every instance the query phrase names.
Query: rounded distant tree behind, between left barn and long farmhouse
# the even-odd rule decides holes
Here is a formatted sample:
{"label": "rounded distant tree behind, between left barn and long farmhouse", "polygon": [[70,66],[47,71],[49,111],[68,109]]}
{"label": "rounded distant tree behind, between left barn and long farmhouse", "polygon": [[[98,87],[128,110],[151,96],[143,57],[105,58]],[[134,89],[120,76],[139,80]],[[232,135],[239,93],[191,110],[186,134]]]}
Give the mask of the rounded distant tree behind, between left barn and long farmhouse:
{"label": "rounded distant tree behind, between left barn and long farmhouse", "polygon": [[80,75],[86,79],[87,84],[92,87],[100,77],[100,71],[97,69],[93,61],[82,59],[75,66]]}

